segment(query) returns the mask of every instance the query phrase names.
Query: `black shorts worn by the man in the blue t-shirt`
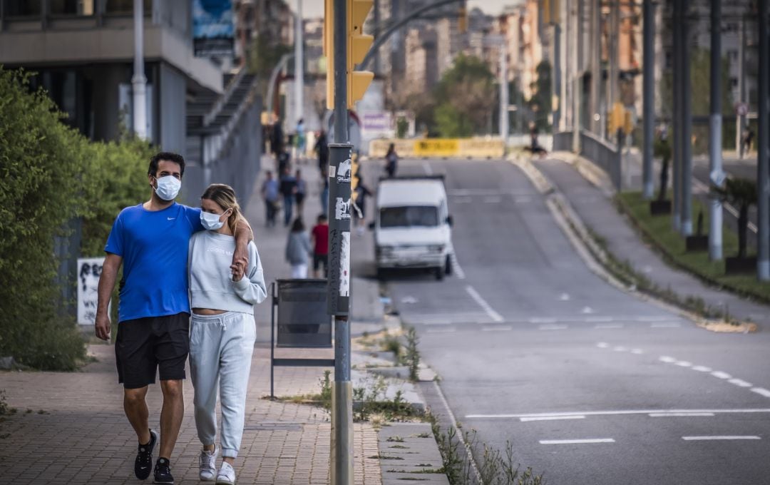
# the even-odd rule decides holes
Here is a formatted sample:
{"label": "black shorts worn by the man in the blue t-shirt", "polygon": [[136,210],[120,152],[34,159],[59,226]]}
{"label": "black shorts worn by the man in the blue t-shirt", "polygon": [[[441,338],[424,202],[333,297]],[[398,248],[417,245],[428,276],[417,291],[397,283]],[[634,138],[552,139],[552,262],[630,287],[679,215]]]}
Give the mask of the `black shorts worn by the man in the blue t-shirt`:
{"label": "black shorts worn by the man in the blue t-shirt", "polygon": [[118,382],[139,389],[160,380],[182,380],[189,353],[189,313],[151,316],[118,324],[115,365]]}

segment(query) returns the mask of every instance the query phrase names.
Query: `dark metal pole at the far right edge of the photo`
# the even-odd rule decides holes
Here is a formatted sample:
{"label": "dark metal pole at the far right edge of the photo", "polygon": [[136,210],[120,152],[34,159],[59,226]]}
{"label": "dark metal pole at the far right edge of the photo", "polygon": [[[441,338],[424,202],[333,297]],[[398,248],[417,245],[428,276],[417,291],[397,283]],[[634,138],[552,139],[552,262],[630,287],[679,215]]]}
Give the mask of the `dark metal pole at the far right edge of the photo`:
{"label": "dark metal pole at the far right edge of the photo", "polygon": [[758,0],[759,16],[759,75],[758,86],[758,129],[757,129],[757,277],[770,281],[770,46],[768,46],[768,0]]}

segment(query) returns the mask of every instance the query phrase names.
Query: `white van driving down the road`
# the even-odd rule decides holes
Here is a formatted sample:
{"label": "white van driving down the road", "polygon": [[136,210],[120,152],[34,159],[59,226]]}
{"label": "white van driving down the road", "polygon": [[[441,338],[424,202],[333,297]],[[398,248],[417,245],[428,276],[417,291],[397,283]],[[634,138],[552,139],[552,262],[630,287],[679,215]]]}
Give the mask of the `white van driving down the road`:
{"label": "white van driving down the road", "polygon": [[427,268],[436,279],[452,272],[452,217],[444,177],[380,179],[374,253],[383,269]]}

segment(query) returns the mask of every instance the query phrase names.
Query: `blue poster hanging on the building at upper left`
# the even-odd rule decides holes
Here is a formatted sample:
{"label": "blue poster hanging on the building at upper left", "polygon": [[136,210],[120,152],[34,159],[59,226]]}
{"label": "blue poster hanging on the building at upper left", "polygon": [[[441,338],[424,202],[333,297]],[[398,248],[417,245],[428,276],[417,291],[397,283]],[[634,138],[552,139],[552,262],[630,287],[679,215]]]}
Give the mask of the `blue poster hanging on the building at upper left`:
{"label": "blue poster hanging on the building at upper left", "polygon": [[195,55],[233,55],[233,0],[192,0]]}

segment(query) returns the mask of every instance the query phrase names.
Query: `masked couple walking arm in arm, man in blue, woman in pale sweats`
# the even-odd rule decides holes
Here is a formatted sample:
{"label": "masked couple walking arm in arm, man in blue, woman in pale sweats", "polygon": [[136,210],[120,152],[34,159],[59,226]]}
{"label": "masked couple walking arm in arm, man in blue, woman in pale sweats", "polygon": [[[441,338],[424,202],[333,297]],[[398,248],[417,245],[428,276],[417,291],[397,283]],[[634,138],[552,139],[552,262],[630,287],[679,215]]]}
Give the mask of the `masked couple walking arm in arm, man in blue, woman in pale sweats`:
{"label": "masked couple walking arm in arm, man in blue, woman in pale sweats", "polygon": [[[251,228],[233,189],[212,184],[200,209],[182,206],[174,199],[184,170],[182,156],[153,156],[147,172],[149,201],[123,209],[115,219],[99,279],[95,332],[109,340],[107,308],[122,265],[115,361],[124,388],[123,409],[139,440],[136,477],[149,477],[159,446],[154,483],[174,483],[170,459],[184,416],[182,380],[189,354],[195,421],[203,444],[199,477],[233,484],[256,340],[253,305],[266,298],[266,286]],[[163,393],[160,434],[149,427],[145,400],[156,372]],[[218,471],[217,386],[223,455]]]}

